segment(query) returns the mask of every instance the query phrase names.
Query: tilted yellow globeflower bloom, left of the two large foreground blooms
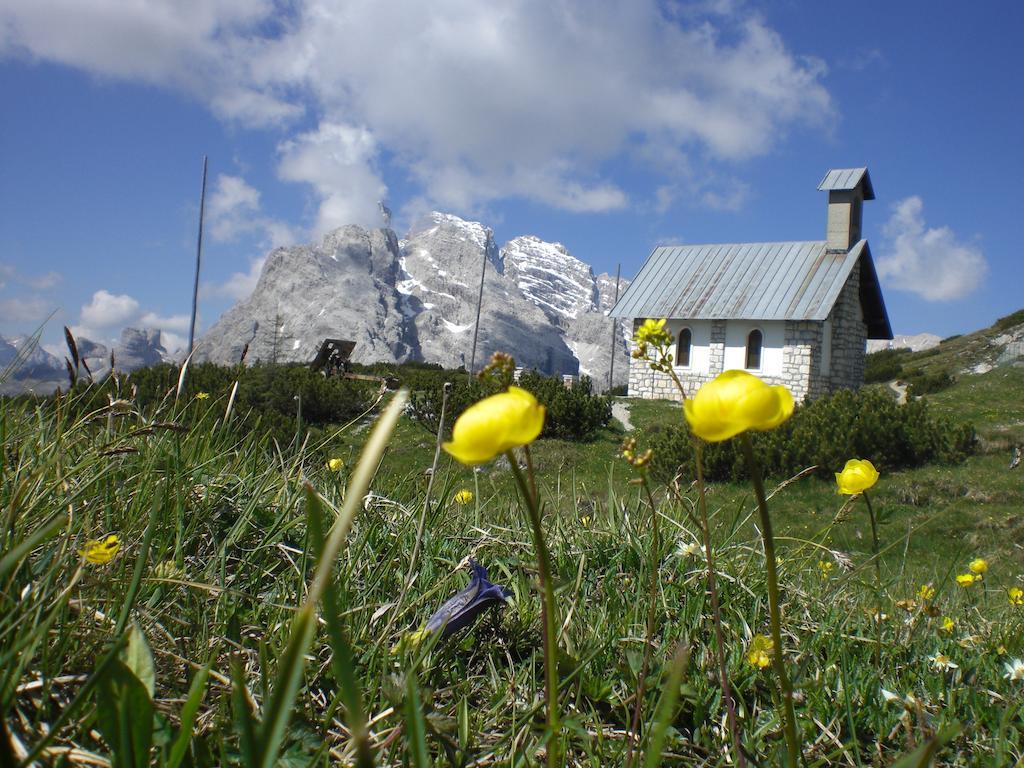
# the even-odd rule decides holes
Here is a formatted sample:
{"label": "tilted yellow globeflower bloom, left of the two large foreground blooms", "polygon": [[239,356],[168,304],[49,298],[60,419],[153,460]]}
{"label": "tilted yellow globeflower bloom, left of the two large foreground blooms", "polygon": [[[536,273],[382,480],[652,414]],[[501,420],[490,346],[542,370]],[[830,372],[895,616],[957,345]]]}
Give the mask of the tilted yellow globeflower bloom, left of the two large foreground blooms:
{"label": "tilted yellow globeflower bloom, left of the two large foreground blooms", "polygon": [[537,439],[544,428],[544,406],[519,387],[490,395],[466,409],[444,450],[463,464],[483,464]]}

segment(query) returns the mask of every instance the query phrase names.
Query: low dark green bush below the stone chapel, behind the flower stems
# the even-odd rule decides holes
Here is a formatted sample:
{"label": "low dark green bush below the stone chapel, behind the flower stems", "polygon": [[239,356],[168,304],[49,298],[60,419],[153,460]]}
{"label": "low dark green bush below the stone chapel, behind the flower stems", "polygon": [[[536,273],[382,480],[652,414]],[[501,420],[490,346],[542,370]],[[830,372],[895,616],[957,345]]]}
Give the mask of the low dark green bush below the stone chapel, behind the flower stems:
{"label": "low dark green bush below the stone chapel, behind the flower stems", "polygon": [[[931,414],[925,400],[898,406],[887,393],[870,389],[844,390],[798,406],[788,421],[770,432],[753,433],[753,439],[765,473],[776,478],[812,466],[827,477],[853,458],[869,459],[880,471],[955,463],[975,447],[972,427]],[[659,478],[695,475],[685,422],[652,431],[649,446]],[[738,440],[707,444],[705,474],[711,480],[744,478]]]}

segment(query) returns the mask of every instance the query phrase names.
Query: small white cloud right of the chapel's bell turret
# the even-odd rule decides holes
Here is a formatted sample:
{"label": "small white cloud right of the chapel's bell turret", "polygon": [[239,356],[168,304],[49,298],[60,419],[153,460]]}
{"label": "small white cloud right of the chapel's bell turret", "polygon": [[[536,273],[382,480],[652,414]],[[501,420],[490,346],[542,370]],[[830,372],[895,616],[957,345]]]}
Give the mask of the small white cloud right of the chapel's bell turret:
{"label": "small white cloud right of the chapel's bell turret", "polygon": [[918,196],[893,206],[886,223],[879,276],[888,286],[927,301],[959,299],[976,291],[988,273],[985,255],[948,226],[929,227]]}

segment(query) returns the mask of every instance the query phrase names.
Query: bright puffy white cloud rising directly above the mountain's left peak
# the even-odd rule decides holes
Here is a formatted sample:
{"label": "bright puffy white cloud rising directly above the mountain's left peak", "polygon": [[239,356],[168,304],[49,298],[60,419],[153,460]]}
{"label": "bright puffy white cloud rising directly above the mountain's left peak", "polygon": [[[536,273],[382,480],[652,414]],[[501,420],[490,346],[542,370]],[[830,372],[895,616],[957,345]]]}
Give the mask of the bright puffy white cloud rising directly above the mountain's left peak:
{"label": "bright puffy white cloud rising directly above the mountain's left peak", "polygon": [[278,147],[278,175],[312,184],[319,196],[313,231],[323,234],[343,224],[379,226],[377,201],[387,187],[374,169],[377,143],[366,128],[321,123]]}

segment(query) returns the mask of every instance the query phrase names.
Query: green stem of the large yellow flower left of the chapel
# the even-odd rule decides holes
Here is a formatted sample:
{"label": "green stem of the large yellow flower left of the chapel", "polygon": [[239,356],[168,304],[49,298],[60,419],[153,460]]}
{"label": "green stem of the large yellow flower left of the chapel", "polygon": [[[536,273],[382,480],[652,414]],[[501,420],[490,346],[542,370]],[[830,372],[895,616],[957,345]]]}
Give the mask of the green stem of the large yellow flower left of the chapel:
{"label": "green stem of the large yellow flower left of the chapel", "polygon": [[526,453],[527,469],[530,475],[528,482],[523,476],[522,470],[519,469],[515,454],[506,451],[505,456],[509,460],[512,475],[515,477],[516,484],[526,503],[526,514],[529,516],[534,549],[537,553],[537,570],[541,580],[541,614],[544,624],[544,687],[548,705],[548,768],[560,768],[561,756],[559,753],[561,751],[557,749],[560,726],[558,723],[558,624],[555,621],[555,586],[551,580],[551,558],[548,555],[548,547],[544,543],[544,530],[541,527],[541,505],[532,477],[534,465],[529,450],[524,447],[523,451]]}

